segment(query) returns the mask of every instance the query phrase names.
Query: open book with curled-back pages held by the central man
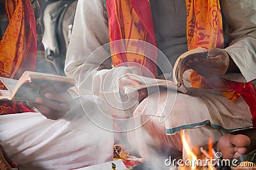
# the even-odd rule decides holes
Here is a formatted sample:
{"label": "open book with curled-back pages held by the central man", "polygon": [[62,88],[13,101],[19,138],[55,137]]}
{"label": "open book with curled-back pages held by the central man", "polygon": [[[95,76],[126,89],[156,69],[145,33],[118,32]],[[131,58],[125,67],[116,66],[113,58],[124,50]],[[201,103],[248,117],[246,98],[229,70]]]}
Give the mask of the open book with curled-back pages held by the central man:
{"label": "open book with curled-back pages held by the central man", "polygon": [[129,85],[125,87],[125,94],[129,94],[136,90],[145,89],[149,87],[165,87],[167,89],[178,90],[184,94],[188,94],[188,89],[185,87],[182,75],[183,73],[189,69],[185,65],[185,62],[193,57],[203,57],[209,58],[208,50],[205,48],[195,48],[194,50],[189,50],[188,52],[182,53],[179,58],[176,60],[174,67],[173,67],[173,81],[171,80],[163,80],[163,79],[156,79],[156,78],[148,78],[145,76],[134,76],[129,75],[129,78],[132,80],[139,81],[141,85]]}

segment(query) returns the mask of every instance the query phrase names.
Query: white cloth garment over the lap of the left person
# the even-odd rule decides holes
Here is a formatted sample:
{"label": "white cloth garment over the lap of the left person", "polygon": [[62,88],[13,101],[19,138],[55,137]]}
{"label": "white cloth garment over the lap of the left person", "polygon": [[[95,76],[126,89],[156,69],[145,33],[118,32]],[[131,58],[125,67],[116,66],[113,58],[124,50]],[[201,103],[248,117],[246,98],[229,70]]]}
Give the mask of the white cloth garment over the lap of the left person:
{"label": "white cloth garment over the lap of the left person", "polygon": [[[75,169],[108,162],[113,160],[113,133],[100,124],[111,129],[113,122],[102,114],[109,114],[104,101],[84,96],[58,120],[40,113],[1,115],[1,145],[20,169]],[[98,124],[88,117],[97,117]]]}

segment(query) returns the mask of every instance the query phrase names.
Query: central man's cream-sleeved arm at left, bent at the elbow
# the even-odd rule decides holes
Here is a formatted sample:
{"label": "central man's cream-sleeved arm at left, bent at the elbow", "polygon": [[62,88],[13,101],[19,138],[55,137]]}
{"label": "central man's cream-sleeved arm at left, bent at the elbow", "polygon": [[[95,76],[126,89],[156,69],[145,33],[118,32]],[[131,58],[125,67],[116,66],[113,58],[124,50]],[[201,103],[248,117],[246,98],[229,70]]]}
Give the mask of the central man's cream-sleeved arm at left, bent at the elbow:
{"label": "central man's cream-sleeved arm at left, bent at the elbow", "polygon": [[104,15],[102,0],[78,1],[65,73],[77,81],[79,95],[97,95],[120,108],[118,79],[140,70],[111,67],[109,46],[104,45],[109,42],[108,19]]}

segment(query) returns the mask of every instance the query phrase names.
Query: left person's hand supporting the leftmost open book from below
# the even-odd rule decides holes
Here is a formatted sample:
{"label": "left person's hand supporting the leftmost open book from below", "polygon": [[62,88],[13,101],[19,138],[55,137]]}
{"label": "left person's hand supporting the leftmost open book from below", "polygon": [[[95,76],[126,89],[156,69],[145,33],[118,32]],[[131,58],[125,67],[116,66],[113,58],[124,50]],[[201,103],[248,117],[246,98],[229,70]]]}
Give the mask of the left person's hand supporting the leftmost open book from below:
{"label": "left person's hand supporting the leftmost open book from below", "polygon": [[62,93],[47,92],[44,97],[36,97],[35,103],[29,106],[35,107],[45,117],[57,120],[63,117],[71,108],[72,96],[68,91]]}

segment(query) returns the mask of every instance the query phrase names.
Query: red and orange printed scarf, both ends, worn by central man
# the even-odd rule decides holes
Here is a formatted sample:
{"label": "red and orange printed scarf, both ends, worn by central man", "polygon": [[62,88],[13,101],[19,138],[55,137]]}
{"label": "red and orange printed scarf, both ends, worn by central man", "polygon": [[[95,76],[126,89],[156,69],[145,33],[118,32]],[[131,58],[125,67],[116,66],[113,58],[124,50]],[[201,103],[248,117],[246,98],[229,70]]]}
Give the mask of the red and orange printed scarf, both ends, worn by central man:
{"label": "red and orange printed scarf, both ends, worn by central man", "polygon": [[[149,0],[107,0],[106,2],[109,17],[110,42],[127,39],[122,41],[124,48],[132,48],[134,41],[129,39],[137,39],[156,46]],[[220,2],[218,0],[186,0],[186,6],[188,50],[197,47],[207,49],[213,47],[223,48],[224,36]],[[116,46],[115,44],[111,45],[110,48],[114,66],[124,66],[123,63],[138,62],[141,66],[147,67],[152,74],[157,75],[155,64],[157,60],[156,51],[148,59],[144,55],[141,55],[145,53],[145,51],[143,52],[145,48],[139,49],[140,54],[116,54],[116,52],[120,51],[120,46]],[[125,64],[125,66],[131,66],[131,64]],[[141,71],[143,73],[143,69]],[[255,87],[252,83],[239,83],[220,79],[221,85],[216,87],[195,71],[192,71],[190,78],[193,87],[218,90],[233,103],[238,97],[242,96],[250,107],[253,126],[256,127],[256,96]]]}

